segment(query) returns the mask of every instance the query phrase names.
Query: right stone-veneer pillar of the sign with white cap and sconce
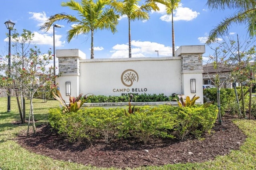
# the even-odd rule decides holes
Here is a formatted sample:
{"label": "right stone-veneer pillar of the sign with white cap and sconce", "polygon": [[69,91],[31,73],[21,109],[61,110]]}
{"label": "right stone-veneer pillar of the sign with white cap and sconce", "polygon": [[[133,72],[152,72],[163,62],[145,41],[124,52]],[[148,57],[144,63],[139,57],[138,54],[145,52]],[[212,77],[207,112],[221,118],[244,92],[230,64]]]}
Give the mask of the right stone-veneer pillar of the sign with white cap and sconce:
{"label": "right stone-veneer pillar of the sign with white cap and sconce", "polygon": [[[176,56],[181,57],[182,93],[186,96],[199,96],[198,101],[204,102],[202,88],[202,54],[205,53],[204,45],[184,45],[176,51]],[[190,80],[196,80],[196,93],[191,93]]]}

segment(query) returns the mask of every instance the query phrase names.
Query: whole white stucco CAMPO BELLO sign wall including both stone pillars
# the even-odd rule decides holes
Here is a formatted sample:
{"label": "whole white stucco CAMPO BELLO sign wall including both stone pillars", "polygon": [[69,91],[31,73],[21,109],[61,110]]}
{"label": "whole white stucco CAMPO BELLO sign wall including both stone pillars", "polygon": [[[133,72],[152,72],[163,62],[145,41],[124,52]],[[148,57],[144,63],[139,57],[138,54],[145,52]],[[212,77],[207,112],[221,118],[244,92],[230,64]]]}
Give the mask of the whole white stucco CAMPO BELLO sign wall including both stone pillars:
{"label": "whole white stucco CAMPO BELLO sign wall including both stone pillars", "polygon": [[[70,82],[71,96],[176,93],[190,97],[196,94],[198,101],[203,102],[203,53],[204,45],[194,45],[181,46],[177,57],[86,59],[78,49],[56,50],[62,73],[57,83],[63,97],[66,82]],[[195,79],[195,93],[191,93],[191,79]]]}

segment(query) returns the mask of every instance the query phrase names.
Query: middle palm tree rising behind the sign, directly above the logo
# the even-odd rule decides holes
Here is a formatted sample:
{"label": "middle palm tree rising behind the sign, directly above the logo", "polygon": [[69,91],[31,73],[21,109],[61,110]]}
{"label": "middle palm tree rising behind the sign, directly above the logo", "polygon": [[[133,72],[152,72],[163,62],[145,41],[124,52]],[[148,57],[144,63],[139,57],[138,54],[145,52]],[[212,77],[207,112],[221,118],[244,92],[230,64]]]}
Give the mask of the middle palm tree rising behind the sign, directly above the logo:
{"label": "middle palm tree rising behind the sign, directly above the logo", "polygon": [[129,31],[129,58],[132,57],[131,47],[131,29],[130,22],[136,19],[148,20],[148,12],[150,10],[159,10],[158,6],[154,2],[148,2],[139,6],[139,0],[123,0],[122,2],[113,0],[111,5],[116,9],[121,16],[127,16],[128,18],[128,31]]}

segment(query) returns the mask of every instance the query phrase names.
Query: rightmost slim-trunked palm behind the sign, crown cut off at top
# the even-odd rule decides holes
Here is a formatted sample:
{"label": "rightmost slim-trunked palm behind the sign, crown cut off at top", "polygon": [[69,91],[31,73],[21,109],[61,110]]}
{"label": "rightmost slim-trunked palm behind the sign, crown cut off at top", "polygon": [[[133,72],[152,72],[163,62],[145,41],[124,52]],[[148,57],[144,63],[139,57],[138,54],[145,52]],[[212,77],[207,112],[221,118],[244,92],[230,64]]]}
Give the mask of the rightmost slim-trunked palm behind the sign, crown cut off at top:
{"label": "rightmost slim-trunked palm behind the sign, crown cut off at top", "polygon": [[149,0],[151,2],[158,2],[166,6],[166,14],[172,15],[172,56],[175,56],[175,41],[174,41],[174,22],[173,11],[178,8],[180,0]]}

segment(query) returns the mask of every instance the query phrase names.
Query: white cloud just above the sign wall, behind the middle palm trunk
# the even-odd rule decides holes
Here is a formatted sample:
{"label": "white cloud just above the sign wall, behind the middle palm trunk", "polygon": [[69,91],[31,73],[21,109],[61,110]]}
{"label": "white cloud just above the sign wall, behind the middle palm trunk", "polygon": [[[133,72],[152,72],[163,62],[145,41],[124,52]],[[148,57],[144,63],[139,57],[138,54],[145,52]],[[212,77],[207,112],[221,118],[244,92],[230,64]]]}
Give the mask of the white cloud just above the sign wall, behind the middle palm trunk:
{"label": "white cloud just above the sign wall, behind the middle palm trunk", "polygon": [[[158,50],[159,56],[171,56],[172,48],[166,47],[163,44],[156,42],[141,42],[141,41],[132,41],[132,57],[157,57],[156,50]],[[127,44],[117,44],[112,47],[113,50],[111,58],[128,58],[129,49]]]}

